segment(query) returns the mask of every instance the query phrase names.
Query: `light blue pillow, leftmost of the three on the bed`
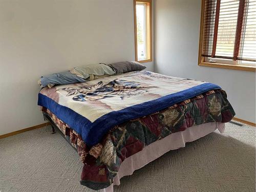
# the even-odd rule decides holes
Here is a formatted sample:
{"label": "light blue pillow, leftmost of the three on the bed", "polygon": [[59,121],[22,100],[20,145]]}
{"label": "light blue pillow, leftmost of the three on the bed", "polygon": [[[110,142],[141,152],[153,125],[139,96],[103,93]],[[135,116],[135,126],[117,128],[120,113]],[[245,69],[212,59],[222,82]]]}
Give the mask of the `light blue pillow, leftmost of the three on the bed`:
{"label": "light blue pillow, leftmost of the three on the bed", "polygon": [[[89,77],[90,75],[88,75]],[[41,84],[41,87],[48,86],[49,88],[55,86],[56,84],[71,84],[76,82],[86,82],[86,79],[77,77],[76,75],[70,73],[70,71],[65,71],[62,73],[54,73],[41,77],[38,80],[38,84]]]}

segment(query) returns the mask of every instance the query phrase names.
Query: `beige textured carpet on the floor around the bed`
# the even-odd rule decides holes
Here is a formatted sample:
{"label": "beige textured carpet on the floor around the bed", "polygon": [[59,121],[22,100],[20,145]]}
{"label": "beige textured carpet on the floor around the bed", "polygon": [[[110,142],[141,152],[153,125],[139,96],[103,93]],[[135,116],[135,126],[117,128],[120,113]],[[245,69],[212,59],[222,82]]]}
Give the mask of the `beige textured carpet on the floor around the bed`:
{"label": "beige textured carpet on the floor around the bed", "polygon": [[[91,191],[78,154],[47,126],[0,140],[0,191]],[[226,123],[121,179],[115,191],[255,191],[255,127]]]}

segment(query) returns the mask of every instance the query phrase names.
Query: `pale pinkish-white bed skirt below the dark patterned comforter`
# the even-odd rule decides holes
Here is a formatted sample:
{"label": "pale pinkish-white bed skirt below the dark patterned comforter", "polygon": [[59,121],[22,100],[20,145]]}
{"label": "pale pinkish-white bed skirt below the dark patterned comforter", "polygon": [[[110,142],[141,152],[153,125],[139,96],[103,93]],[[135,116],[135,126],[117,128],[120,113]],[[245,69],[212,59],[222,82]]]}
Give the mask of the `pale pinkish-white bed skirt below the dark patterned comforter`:
{"label": "pale pinkish-white bed skirt below the dark patterned comforter", "polygon": [[120,179],[124,176],[132,175],[133,172],[146,164],[154,161],[170,150],[185,147],[186,142],[195,141],[218,129],[221,133],[225,130],[225,123],[204,123],[189,127],[183,132],[170,134],[167,137],[155,141],[143,148],[142,151],[126,158],[120,165],[118,174],[114,178],[114,183],[109,187],[101,189],[101,192],[113,192],[114,185],[120,185]]}

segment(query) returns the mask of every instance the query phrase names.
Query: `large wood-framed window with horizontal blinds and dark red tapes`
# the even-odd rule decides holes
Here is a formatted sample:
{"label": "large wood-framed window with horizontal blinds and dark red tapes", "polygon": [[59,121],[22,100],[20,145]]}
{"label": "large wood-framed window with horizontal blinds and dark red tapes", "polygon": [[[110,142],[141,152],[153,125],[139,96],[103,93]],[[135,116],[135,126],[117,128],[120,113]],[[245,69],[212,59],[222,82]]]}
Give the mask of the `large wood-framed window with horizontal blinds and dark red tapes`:
{"label": "large wood-framed window with horizontal blinds and dark red tapes", "polygon": [[256,0],[202,0],[199,65],[255,71]]}

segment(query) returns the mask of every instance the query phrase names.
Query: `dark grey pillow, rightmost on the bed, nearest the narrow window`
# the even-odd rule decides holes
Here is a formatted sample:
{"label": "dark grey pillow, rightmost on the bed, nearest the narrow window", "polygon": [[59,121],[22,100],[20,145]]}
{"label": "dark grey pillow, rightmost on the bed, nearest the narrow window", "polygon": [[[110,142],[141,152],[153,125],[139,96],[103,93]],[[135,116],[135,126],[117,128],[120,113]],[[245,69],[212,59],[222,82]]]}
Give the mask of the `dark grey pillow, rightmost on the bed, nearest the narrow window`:
{"label": "dark grey pillow, rightmost on the bed, nearest the narrow window", "polygon": [[116,73],[127,73],[131,71],[140,71],[145,69],[141,63],[137,61],[122,61],[108,64],[112,69],[116,71]]}

